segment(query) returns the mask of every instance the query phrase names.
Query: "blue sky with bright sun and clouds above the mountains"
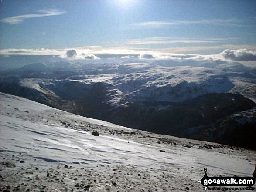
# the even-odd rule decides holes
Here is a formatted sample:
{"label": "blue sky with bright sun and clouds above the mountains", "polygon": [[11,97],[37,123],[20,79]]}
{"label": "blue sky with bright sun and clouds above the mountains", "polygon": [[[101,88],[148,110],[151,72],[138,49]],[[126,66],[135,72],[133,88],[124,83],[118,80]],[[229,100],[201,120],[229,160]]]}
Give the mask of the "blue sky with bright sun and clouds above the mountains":
{"label": "blue sky with bright sun and clouds above the mountains", "polygon": [[0,55],[256,56],[255,8],[255,0],[1,0]]}

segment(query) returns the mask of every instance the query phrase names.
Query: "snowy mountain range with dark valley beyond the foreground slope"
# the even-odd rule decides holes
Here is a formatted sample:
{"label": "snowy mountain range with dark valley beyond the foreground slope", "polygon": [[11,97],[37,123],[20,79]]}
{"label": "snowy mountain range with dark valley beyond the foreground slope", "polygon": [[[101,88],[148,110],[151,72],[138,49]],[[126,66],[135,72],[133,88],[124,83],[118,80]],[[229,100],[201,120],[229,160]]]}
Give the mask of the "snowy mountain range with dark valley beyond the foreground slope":
{"label": "snowy mountain range with dark valley beyond the foreground slope", "polygon": [[[52,62],[0,76],[0,91],[78,115],[222,144],[241,141],[240,147],[251,149],[247,141],[253,138],[246,141],[239,136],[231,141],[227,135],[232,128],[234,134],[240,133],[241,127],[251,135],[255,89],[255,69],[223,61]],[[234,120],[235,114],[248,110],[247,124]]]}

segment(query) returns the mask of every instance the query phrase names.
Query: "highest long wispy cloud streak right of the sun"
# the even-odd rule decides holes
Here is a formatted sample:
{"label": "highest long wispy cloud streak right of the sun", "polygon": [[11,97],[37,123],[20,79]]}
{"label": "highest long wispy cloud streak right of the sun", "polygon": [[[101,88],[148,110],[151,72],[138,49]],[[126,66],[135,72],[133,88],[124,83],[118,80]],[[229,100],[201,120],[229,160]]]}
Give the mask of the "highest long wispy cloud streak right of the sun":
{"label": "highest long wispy cloud streak right of the sun", "polygon": [[242,19],[208,19],[208,20],[187,20],[187,21],[146,21],[140,23],[129,24],[131,27],[143,27],[143,28],[164,28],[174,27],[184,24],[215,24],[224,26],[245,26],[242,23],[246,20]]}

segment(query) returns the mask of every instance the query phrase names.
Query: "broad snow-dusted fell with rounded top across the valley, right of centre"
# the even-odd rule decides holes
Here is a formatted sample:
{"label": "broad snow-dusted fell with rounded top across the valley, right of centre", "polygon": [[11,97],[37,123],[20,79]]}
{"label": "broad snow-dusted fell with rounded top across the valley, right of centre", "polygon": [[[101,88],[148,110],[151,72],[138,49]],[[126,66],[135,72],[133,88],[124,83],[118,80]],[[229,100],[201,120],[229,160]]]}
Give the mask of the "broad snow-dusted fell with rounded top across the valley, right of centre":
{"label": "broad snow-dusted fell with rounded top across the valley, right of centre", "polygon": [[179,102],[207,93],[224,93],[234,85],[222,71],[204,67],[158,67],[120,75],[114,88],[130,102]]}

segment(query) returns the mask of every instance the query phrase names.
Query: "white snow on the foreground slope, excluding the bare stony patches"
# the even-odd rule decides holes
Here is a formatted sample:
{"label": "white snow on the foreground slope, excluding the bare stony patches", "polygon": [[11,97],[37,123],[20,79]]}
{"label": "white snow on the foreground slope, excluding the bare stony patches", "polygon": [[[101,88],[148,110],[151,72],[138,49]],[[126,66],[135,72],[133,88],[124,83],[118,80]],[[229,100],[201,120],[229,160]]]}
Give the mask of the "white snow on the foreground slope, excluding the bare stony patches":
{"label": "white snow on the foreground slope, excluding the bare stony patches", "polygon": [[[204,167],[208,168],[209,176],[250,176],[254,170],[256,161],[254,151],[240,148],[232,150],[226,146],[206,150],[200,147],[207,144],[203,141],[132,130],[105,121],[73,115],[8,94],[0,94],[0,101],[1,162],[12,161],[8,158],[12,155],[25,159],[24,164],[14,161],[17,164],[14,171],[17,170],[17,172],[22,171],[20,168],[27,168],[29,165],[29,167],[39,167],[40,170],[57,168],[56,170],[64,174],[65,169],[62,170],[58,166],[63,168],[64,165],[72,165],[77,170],[93,168],[95,172],[105,171],[105,175],[111,175],[113,172],[110,172],[110,169],[121,166],[124,174],[118,180],[119,188],[125,185],[128,176],[131,181],[138,182],[136,175],[140,172],[147,175],[147,180],[141,178],[140,182],[149,182],[148,186],[146,184],[138,186],[140,189],[153,187],[161,190],[161,187],[165,187],[170,191],[171,186],[175,186],[177,191],[182,191],[185,188],[185,181],[193,185],[189,185],[191,190],[203,191],[204,188],[197,184],[197,181],[202,178]],[[62,124],[61,122],[64,121],[72,125]],[[82,128],[86,128],[87,131]],[[112,130],[116,134],[109,134]],[[121,130],[135,131],[136,134],[120,135],[118,132]],[[98,131],[100,136],[91,135],[92,131]],[[156,138],[162,139],[161,143],[157,143]],[[163,141],[166,140],[170,142],[164,143]],[[176,145],[173,144],[174,141]],[[187,144],[193,147],[184,147]],[[160,152],[160,150],[166,152]],[[8,154],[11,155],[8,156]],[[125,173],[131,170],[136,172],[136,175]],[[2,175],[5,177],[4,174],[8,175],[9,171],[8,168],[3,167]],[[65,172],[65,174],[71,173]],[[170,185],[161,179],[156,181],[156,178],[163,174],[169,178]],[[155,178],[153,175],[158,176]],[[9,177],[11,178],[12,175]],[[98,177],[104,177],[104,174],[99,174]],[[44,178],[42,179],[44,182]],[[154,181],[158,183],[157,186]],[[69,187],[74,184],[69,180],[65,182]],[[8,184],[7,181],[6,183]],[[57,185],[55,183],[51,187]],[[91,190],[106,189],[105,185],[95,184]]]}

